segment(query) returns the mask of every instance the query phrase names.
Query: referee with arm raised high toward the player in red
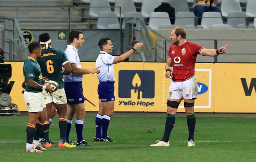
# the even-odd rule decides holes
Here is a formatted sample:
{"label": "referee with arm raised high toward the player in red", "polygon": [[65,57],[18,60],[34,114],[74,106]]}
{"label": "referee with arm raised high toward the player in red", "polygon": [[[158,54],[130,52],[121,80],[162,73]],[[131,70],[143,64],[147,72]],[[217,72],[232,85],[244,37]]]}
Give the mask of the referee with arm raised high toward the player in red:
{"label": "referee with arm raised high toward the player in red", "polygon": [[[100,54],[96,59],[96,67],[99,68],[98,80],[98,95],[99,95],[99,111],[96,116],[96,136],[94,141],[114,142],[108,137],[108,125],[110,117],[114,113],[114,68],[113,64],[126,60],[134,51],[143,46],[143,43],[136,43],[130,51],[120,55],[112,56],[109,53],[113,51],[113,45],[109,38],[102,38],[98,43]],[[102,128],[102,134],[101,134]]]}

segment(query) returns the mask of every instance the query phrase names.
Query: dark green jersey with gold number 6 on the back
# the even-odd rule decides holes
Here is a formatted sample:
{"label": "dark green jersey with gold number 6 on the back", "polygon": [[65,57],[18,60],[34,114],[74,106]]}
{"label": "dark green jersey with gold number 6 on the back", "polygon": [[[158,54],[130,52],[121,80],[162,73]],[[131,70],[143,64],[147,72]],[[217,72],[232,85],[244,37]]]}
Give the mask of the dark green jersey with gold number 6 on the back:
{"label": "dark green jersey with gold number 6 on the back", "polygon": [[59,84],[59,88],[64,88],[61,69],[62,65],[69,61],[63,50],[53,47],[42,48],[41,57],[37,59],[37,62],[41,66],[43,76],[47,76],[49,80],[56,81]]}

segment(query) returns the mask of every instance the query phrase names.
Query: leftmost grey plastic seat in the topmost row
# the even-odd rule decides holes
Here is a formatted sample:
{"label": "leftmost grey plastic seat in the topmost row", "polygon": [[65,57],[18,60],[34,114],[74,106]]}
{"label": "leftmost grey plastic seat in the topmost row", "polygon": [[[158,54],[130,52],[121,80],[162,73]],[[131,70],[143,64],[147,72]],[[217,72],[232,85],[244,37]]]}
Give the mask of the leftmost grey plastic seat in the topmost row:
{"label": "leftmost grey plastic seat in the topmost row", "polygon": [[90,3],[90,18],[98,18],[100,12],[111,12],[108,0],[92,0]]}

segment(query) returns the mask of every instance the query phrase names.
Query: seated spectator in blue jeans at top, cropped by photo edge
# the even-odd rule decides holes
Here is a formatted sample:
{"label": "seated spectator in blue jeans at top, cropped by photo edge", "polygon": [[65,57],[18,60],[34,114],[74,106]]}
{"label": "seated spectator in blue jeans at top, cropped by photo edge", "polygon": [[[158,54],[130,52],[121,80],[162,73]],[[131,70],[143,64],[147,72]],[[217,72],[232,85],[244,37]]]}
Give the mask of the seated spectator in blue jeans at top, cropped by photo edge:
{"label": "seated spectator in blue jeans at top, cropped by photo edge", "polygon": [[[198,17],[198,25],[201,25],[202,15],[204,12],[220,12],[221,9],[216,4],[221,0],[194,0],[196,4],[193,6],[194,14]],[[222,16],[222,15],[221,15]]]}

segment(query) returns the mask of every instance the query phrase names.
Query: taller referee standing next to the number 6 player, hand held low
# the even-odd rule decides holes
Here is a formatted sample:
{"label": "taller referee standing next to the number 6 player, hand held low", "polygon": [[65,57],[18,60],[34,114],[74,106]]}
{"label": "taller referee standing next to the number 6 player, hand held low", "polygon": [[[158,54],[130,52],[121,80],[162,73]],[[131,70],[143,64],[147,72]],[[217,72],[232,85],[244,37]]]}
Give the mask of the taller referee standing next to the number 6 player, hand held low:
{"label": "taller referee standing next to the number 6 player, hand held low", "polygon": [[71,31],[69,34],[69,40],[70,45],[66,48],[65,53],[71,64],[72,72],[69,75],[64,75],[64,88],[68,100],[66,141],[72,144],[72,141],[69,140],[69,133],[72,126],[72,119],[76,113],[76,145],[91,146],[91,144],[83,139],[85,107],[82,79],[84,74],[98,74],[100,72],[100,70],[98,70],[100,66],[93,68],[92,70],[81,67],[78,56],[78,48],[82,47],[84,44],[84,36],[81,31]]}

